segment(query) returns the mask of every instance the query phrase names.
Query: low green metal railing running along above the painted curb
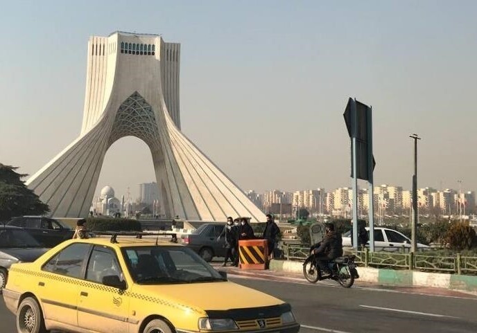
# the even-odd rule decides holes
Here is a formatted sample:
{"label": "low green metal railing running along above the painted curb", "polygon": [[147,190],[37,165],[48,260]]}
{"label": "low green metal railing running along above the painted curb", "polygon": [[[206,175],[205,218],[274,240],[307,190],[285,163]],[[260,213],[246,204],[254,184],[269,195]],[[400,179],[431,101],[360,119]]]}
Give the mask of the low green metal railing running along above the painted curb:
{"label": "low green metal railing running along above the painted curb", "polygon": [[[296,244],[283,244],[282,246],[286,260],[304,260],[309,255],[309,249],[309,246]],[[419,253],[405,253],[404,251],[406,250],[370,252],[369,249],[365,249],[365,251],[345,249],[346,254],[356,255],[356,264],[365,267],[393,267],[396,269],[477,275],[477,257],[462,256],[460,253],[437,256],[428,255],[425,251]]]}

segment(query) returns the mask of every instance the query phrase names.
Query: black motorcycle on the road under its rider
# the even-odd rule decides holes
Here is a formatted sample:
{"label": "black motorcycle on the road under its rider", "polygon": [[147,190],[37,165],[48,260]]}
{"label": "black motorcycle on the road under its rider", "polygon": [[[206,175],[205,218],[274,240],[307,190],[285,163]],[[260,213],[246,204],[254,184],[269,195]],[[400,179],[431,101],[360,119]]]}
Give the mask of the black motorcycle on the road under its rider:
{"label": "black motorcycle on the road under its rider", "polygon": [[303,263],[303,275],[311,283],[331,279],[338,281],[342,287],[349,288],[353,285],[354,279],[359,277],[354,263],[355,257],[355,255],[345,255],[331,260],[328,263],[331,274],[324,275],[320,266],[318,266],[316,256],[312,253]]}

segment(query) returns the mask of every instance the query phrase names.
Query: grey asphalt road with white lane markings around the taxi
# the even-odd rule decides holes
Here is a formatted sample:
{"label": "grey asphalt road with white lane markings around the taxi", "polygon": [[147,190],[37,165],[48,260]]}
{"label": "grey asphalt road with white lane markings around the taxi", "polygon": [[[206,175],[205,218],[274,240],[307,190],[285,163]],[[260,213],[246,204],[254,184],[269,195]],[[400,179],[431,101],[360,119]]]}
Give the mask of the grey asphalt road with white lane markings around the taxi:
{"label": "grey asphalt road with white lane markings around the taxi", "polygon": [[[230,280],[286,300],[302,324],[303,333],[374,332],[477,332],[477,298],[438,289],[382,289],[356,285],[351,289],[334,282],[316,285],[298,279]],[[449,294],[453,296],[449,296]],[[457,295],[457,296],[456,296]],[[0,302],[0,333],[15,333],[15,318]]]}

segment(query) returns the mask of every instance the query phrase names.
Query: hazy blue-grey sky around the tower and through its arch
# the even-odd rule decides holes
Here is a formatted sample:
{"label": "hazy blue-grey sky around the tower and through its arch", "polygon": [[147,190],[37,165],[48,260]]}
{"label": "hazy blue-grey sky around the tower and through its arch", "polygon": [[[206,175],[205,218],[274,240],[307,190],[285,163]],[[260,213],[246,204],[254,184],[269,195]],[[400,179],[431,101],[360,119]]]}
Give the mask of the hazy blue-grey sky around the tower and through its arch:
{"label": "hazy blue-grey sky around the tower and through its arch", "polygon": [[[80,133],[87,40],[181,43],[181,124],[243,190],[349,186],[347,98],[373,107],[376,184],[477,189],[477,1],[1,1],[0,163],[33,174]],[[122,138],[98,188],[137,196]],[[364,183],[361,185],[365,185]]]}

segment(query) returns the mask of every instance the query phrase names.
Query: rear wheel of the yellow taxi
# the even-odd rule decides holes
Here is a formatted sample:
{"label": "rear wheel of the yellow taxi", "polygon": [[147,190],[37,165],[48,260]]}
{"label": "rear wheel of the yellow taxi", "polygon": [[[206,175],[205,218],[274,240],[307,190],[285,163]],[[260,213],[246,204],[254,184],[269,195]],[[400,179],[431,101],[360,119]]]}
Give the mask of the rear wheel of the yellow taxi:
{"label": "rear wheel of the yellow taxi", "polygon": [[34,298],[21,301],[17,311],[17,331],[20,333],[46,333],[40,305]]}

